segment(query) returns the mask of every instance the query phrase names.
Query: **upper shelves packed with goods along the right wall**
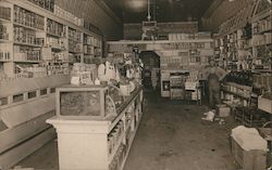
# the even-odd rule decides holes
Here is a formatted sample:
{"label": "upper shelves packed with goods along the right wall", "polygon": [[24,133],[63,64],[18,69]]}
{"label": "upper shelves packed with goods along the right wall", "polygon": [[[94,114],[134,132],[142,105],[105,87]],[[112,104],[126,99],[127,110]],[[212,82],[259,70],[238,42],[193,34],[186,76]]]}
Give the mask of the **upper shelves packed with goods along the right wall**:
{"label": "upper shelves packed with goods along the right wall", "polygon": [[[215,38],[219,65],[232,70],[268,70],[272,65],[271,4],[258,0],[247,4],[220,26]],[[246,21],[240,18],[247,18]]]}

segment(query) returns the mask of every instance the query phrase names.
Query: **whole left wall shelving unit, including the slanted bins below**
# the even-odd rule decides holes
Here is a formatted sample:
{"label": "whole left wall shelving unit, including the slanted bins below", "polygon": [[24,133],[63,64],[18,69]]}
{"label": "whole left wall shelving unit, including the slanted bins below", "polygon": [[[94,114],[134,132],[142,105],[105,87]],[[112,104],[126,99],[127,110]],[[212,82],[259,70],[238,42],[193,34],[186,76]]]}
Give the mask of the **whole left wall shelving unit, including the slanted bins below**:
{"label": "whole left wall shelving unit, including the slanted bins below", "polygon": [[78,32],[82,47],[88,35],[101,48],[102,35],[27,0],[0,0],[0,167],[9,169],[54,138],[46,120],[75,62],[69,29]]}

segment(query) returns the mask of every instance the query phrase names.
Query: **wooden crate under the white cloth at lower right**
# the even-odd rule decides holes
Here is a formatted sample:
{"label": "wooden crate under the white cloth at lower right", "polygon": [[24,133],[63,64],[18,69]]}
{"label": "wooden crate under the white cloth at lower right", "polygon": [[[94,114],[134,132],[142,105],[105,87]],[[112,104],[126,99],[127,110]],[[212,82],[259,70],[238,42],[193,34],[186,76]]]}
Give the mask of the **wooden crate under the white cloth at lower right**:
{"label": "wooden crate under the white cloth at lower right", "polygon": [[238,143],[232,139],[232,154],[243,170],[265,170],[267,152],[254,149],[244,151]]}

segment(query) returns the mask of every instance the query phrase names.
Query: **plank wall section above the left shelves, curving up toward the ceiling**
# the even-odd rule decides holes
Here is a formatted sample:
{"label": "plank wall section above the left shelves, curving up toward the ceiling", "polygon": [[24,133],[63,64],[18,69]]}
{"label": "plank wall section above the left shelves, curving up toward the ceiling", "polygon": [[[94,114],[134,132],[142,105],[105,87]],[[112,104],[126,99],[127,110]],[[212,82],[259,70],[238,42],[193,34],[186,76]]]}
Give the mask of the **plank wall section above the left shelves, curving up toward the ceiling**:
{"label": "plank wall section above the left shelves, curving up toward the ceiling", "polygon": [[98,27],[108,40],[123,37],[123,24],[101,0],[55,0],[55,4],[84,17]]}

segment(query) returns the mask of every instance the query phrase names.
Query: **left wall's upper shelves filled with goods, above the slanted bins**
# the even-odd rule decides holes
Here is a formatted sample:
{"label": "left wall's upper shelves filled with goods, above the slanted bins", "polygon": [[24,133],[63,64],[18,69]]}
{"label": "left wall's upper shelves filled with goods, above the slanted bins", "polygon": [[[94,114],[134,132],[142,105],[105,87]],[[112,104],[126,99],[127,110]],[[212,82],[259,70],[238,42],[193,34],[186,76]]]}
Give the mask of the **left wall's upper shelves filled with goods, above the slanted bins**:
{"label": "left wall's upper shelves filled with goods, above the slanted bins", "polygon": [[[16,65],[27,67],[39,62],[90,63],[91,58],[102,55],[101,35],[84,28],[79,22],[76,25],[30,1],[5,0],[0,1],[0,6],[4,10],[0,16],[0,62],[8,78],[16,77]],[[84,55],[84,35],[94,39],[95,51],[99,52]],[[32,55],[36,55],[37,60],[32,60]]]}

